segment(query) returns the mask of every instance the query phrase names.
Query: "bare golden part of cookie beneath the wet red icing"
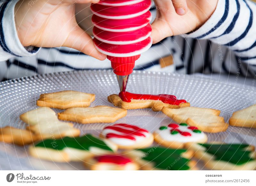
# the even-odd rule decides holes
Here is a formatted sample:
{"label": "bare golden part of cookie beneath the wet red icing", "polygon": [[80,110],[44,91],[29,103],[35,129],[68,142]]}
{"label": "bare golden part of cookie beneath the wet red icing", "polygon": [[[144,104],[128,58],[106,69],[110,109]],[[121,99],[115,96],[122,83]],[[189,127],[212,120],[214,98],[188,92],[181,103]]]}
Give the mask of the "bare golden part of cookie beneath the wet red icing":
{"label": "bare golden part of cookie beneath the wet red icing", "polygon": [[181,108],[181,107],[188,107],[190,104],[180,103],[180,105],[171,105],[167,103],[163,103],[160,100],[137,100],[132,99],[131,102],[123,101],[117,94],[112,94],[108,96],[108,101],[113,103],[115,106],[124,108],[124,109],[143,109],[143,108],[150,108],[153,111],[161,111],[161,109],[165,106],[168,108]]}

